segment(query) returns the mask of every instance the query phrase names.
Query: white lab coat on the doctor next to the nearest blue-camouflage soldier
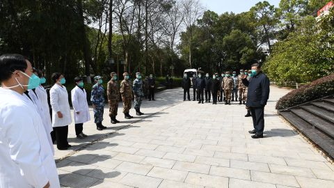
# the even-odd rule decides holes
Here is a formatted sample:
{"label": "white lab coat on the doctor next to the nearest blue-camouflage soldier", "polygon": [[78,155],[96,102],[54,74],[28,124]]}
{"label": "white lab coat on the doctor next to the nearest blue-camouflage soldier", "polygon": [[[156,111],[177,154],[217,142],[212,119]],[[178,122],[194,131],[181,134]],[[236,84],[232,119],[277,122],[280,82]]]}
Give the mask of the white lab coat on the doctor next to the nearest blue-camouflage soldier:
{"label": "white lab coat on the doctor next to the nearest blue-camouflage soldier", "polygon": [[[89,107],[87,102],[87,93],[75,86],[71,91],[72,106],[74,109],[74,122],[77,123],[86,123],[90,120]],[[80,112],[77,114],[77,112]]]}

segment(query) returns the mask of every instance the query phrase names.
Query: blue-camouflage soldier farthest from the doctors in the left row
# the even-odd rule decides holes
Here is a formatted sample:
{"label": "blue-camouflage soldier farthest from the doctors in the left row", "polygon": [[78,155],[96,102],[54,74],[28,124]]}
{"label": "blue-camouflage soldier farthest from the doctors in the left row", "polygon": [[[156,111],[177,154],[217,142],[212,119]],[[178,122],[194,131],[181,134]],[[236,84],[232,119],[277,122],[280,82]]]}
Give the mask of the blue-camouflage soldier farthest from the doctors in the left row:
{"label": "blue-camouflage soldier farthest from the doctors in the left row", "polygon": [[132,84],[134,91],[134,109],[136,110],[136,115],[141,116],[141,101],[143,100],[143,80],[141,79],[141,72],[136,72],[136,79]]}

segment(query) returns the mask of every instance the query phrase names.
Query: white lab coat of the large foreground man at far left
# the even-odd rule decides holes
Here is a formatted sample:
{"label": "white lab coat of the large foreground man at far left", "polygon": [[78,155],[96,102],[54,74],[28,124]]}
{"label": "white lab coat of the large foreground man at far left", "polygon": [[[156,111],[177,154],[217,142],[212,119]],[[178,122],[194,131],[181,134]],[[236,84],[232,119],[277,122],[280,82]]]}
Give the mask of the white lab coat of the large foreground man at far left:
{"label": "white lab coat of the large foreground man at far left", "polygon": [[58,188],[42,119],[29,98],[0,88],[0,188]]}

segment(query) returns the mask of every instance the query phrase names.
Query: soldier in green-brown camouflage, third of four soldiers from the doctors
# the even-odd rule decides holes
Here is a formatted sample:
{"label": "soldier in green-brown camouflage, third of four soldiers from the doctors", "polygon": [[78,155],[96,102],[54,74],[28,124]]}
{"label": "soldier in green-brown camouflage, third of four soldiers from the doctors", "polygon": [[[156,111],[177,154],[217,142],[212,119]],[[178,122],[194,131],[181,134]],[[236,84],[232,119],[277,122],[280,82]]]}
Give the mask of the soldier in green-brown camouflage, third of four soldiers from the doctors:
{"label": "soldier in green-brown camouflage, third of four soldiers from the doctors", "polygon": [[129,74],[127,72],[123,73],[124,80],[120,82],[120,95],[123,101],[123,113],[126,119],[131,119],[129,111],[131,109],[132,103],[132,83],[129,81]]}

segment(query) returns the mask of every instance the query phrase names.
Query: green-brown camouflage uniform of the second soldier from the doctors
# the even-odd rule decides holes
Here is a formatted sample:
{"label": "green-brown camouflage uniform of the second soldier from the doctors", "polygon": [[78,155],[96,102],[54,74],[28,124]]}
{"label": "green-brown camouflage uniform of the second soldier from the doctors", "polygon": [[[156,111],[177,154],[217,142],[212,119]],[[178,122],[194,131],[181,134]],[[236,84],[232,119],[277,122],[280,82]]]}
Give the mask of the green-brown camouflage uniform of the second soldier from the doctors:
{"label": "green-brown camouflage uniform of the second soldier from the doctors", "polygon": [[120,89],[117,81],[115,80],[108,81],[106,94],[108,96],[108,103],[109,103],[109,116],[115,117],[117,116],[118,100],[120,98]]}

